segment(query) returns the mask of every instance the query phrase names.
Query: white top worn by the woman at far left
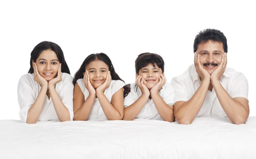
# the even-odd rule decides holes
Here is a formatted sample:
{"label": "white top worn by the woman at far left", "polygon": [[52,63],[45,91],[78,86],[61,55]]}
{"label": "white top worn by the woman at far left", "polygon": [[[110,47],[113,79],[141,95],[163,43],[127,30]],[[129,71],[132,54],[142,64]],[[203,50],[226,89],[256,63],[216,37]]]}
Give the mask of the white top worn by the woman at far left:
{"label": "white top worn by the woman at far left", "polygon": [[[62,81],[55,85],[55,89],[62,103],[70,112],[70,120],[73,120],[73,78],[67,73],[61,73],[61,77]],[[40,90],[41,86],[38,82],[35,82],[34,74],[24,74],[20,77],[17,94],[18,103],[20,105],[20,120],[22,122],[26,122],[29,108],[34,104]],[[38,118],[38,121],[45,120],[58,120],[58,116],[52,103],[52,98],[48,99],[47,95],[45,95],[44,105]]]}

